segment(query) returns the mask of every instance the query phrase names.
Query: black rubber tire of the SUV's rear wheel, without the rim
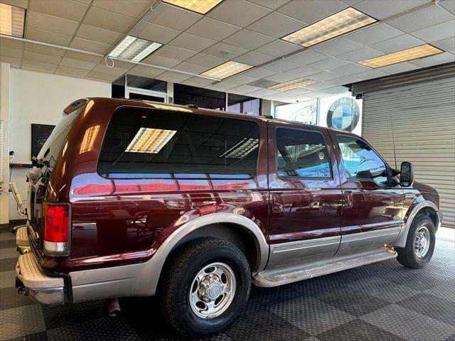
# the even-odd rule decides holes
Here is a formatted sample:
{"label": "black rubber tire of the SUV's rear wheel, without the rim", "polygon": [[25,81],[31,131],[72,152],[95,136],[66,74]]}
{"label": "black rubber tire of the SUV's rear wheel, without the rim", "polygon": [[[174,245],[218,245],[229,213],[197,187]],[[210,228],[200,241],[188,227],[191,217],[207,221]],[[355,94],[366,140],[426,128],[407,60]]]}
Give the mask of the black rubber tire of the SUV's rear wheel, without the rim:
{"label": "black rubber tire of the SUV's rear wheel, without the rim", "polygon": [[[235,274],[235,293],[228,308],[215,318],[201,318],[191,308],[189,295],[196,274],[209,264],[227,264]],[[159,296],[164,318],[181,335],[205,337],[228,328],[250,296],[251,273],[245,255],[221,239],[197,239],[179,249],[161,274]],[[194,288],[193,288],[194,292]]]}

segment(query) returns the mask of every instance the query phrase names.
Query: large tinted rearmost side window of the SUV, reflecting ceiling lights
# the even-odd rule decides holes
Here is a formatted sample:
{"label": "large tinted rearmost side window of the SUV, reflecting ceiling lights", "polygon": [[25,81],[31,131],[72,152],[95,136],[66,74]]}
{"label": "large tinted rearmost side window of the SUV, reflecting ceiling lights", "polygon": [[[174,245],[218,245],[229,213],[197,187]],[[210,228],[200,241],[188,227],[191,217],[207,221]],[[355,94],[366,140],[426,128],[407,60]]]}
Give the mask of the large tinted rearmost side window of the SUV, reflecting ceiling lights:
{"label": "large tinted rearmost side window of the SUV, reflecting ceiling lights", "polygon": [[106,178],[251,178],[258,149],[253,121],[122,108],[107,128],[98,172]]}

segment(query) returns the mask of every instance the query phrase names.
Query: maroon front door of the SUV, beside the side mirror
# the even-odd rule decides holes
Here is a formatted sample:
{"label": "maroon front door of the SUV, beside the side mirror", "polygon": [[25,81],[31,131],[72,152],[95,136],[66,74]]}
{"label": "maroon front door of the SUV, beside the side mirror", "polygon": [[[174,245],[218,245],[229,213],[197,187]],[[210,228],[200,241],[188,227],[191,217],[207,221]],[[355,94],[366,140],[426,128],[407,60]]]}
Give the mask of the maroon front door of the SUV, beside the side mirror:
{"label": "maroon front door of the SUV, beside the side mirror", "polygon": [[344,201],[338,255],[385,247],[400,234],[403,190],[392,187],[387,164],[363,139],[333,131],[331,136],[341,158]]}

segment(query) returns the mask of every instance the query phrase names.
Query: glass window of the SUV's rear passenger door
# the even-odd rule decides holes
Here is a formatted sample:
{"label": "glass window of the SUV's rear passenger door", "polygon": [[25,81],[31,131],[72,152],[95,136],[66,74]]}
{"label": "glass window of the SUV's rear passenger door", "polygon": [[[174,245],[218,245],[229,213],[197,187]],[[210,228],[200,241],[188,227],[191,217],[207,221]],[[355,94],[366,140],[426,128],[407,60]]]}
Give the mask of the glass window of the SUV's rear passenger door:
{"label": "glass window of the SUV's rear passenger door", "polygon": [[315,131],[277,129],[279,176],[331,178],[326,144]]}

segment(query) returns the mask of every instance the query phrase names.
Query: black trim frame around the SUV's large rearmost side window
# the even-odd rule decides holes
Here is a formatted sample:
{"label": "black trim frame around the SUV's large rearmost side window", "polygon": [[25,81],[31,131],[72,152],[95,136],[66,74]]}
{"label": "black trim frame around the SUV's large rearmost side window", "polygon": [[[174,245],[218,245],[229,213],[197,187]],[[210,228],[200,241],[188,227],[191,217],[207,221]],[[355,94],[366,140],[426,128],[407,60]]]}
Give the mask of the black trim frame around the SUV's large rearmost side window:
{"label": "black trim frame around the SUV's large rearmost side window", "polygon": [[[204,117],[219,117],[219,118],[222,118],[222,119],[237,119],[237,120],[241,120],[241,121],[249,121],[249,122],[252,122],[252,123],[257,125],[257,135],[258,135],[259,143],[258,143],[258,147],[257,147],[257,159],[256,159],[256,168],[255,168],[255,173],[254,174],[252,174],[248,178],[246,178],[246,177],[245,178],[232,178],[232,177],[231,178],[174,178],[173,175],[171,175],[171,173],[163,173],[163,174],[170,174],[171,175],[170,178],[142,178],[142,177],[139,177],[139,176],[137,178],[109,178],[109,177],[107,177],[105,175],[102,175],[102,173],[100,172],[99,167],[100,167],[100,158],[101,158],[102,148],[105,146],[107,129],[109,129],[109,126],[112,123],[112,119],[114,118],[114,114],[116,114],[117,112],[119,112],[119,110],[122,110],[122,109],[144,109],[144,110],[151,111],[151,112],[162,112],[162,113],[176,112],[176,113],[179,113],[178,111],[173,111],[173,110],[163,110],[163,109],[156,109],[156,108],[151,108],[151,107],[140,107],[140,106],[135,106],[135,105],[121,105],[121,106],[115,108],[114,112],[112,112],[112,115],[109,118],[109,121],[107,122],[107,126],[106,126],[106,129],[105,129],[105,134],[102,136],[102,144],[100,146],[100,152],[98,153],[98,157],[97,157],[96,173],[97,173],[97,175],[100,175],[101,178],[104,178],[104,179],[107,179],[107,180],[207,180],[207,181],[213,181],[213,180],[252,180],[252,179],[256,178],[257,170],[258,170],[258,167],[259,167],[259,160],[260,160],[259,151],[260,151],[260,148],[261,148],[261,133],[260,133],[259,122],[257,122],[255,119],[240,119],[240,118],[237,118],[237,117],[232,117],[232,118],[231,117],[220,117],[218,115],[202,114],[202,113],[198,113],[198,112],[186,112],[184,114],[200,115],[200,116],[204,116]],[[125,174],[132,174],[132,173],[125,173]]]}

